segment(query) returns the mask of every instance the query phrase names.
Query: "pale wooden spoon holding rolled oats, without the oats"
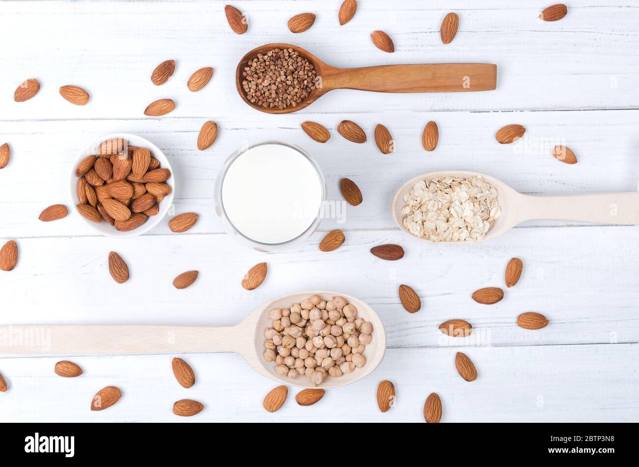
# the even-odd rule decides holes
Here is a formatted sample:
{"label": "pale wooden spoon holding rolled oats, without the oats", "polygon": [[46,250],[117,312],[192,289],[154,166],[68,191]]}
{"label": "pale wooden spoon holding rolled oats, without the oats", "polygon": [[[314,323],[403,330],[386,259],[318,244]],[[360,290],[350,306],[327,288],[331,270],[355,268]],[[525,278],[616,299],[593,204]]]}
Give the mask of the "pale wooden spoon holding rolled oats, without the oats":
{"label": "pale wooden spoon holding rolled oats, without the oats", "polygon": [[[514,226],[529,220],[593,222],[602,224],[639,224],[639,192],[598,193],[593,195],[573,196],[530,196],[522,195],[504,182],[490,175],[466,172],[463,170],[445,170],[418,175],[404,183],[396,191],[391,203],[391,212],[395,223],[402,232],[413,239],[420,239],[404,227],[404,195],[409,193],[417,182],[435,177],[450,175],[452,177],[472,177],[482,175],[484,180],[497,188],[497,200],[502,209],[501,216],[486,233],[481,242],[494,239]],[[475,243],[480,241],[451,241],[440,243]]]}

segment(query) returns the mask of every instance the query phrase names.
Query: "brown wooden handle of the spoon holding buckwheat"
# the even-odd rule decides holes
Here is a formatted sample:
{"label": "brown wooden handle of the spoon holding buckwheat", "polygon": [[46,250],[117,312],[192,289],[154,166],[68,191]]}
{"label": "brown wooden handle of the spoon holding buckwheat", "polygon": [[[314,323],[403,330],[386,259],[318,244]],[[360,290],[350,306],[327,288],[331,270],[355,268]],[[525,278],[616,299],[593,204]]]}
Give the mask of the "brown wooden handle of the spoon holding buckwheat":
{"label": "brown wooden handle of the spoon holding buckwheat", "polygon": [[334,69],[325,78],[329,89],[359,89],[378,93],[450,93],[492,91],[497,65],[450,63],[385,65]]}

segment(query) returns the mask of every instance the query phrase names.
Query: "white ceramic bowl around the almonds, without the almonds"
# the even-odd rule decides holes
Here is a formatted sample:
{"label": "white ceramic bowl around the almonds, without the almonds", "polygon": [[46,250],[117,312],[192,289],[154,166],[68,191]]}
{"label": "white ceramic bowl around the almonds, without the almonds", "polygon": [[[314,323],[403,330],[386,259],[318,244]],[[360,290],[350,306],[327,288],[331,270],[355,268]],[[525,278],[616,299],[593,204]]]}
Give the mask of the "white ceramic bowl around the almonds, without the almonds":
{"label": "white ceramic bowl around the almonds, without the almonds", "polygon": [[169,170],[171,170],[171,177],[169,177],[166,181],[167,184],[171,185],[171,188],[172,188],[171,193],[165,196],[164,200],[160,202],[160,205],[159,205],[160,212],[155,214],[155,216],[149,216],[149,218],[146,220],[144,224],[142,224],[138,228],[134,228],[134,230],[129,230],[128,232],[120,232],[119,230],[116,230],[116,228],[112,226],[111,224],[109,224],[108,222],[102,221],[100,223],[96,223],[93,221],[89,221],[89,219],[86,219],[84,216],[79,214],[82,220],[86,222],[87,225],[90,225],[91,228],[96,230],[96,232],[99,232],[102,235],[106,235],[107,237],[128,239],[130,237],[137,237],[138,235],[142,235],[143,233],[148,232],[153,227],[158,225],[158,223],[160,223],[162,219],[164,219],[164,216],[166,216],[167,212],[169,212],[169,208],[173,204],[173,195],[176,190],[175,177],[173,176],[173,167],[171,167],[171,163],[169,163],[169,159],[166,158],[166,156],[164,155],[164,152],[160,151],[160,148],[158,148],[155,144],[151,143],[150,141],[142,137],[139,137],[137,135],[130,135],[128,133],[113,133],[112,135],[106,135],[100,138],[99,140],[96,140],[92,144],[88,145],[88,147],[84,148],[82,153],[78,156],[77,161],[75,161],[75,164],[73,165],[73,168],[70,172],[71,199],[73,200],[73,209],[75,210],[75,212],[77,212],[77,209],[75,209],[75,206],[80,203],[77,196],[78,177],[75,176],[75,169],[77,168],[78,164],[82,161],[82,159],[86,158],[86,156],[91,156],[91,154],[98,153],[98,146],[100,145],[101,142],[105,140],[109,140],[111,138],[124,138],[125,140],[127,140],[128,144],[130,145],[146,147],[146,149],[151,151],[151,156],[158,159],[158,161],[160,161],[161,168],[168,168]]}

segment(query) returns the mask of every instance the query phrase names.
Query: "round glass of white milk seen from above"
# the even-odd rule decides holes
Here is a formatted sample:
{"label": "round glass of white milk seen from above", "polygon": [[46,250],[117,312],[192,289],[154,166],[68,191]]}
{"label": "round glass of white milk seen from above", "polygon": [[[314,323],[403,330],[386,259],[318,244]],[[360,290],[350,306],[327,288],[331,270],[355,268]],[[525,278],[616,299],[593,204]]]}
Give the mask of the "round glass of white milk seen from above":
{"label": "round glass of white milk seen from above", "polygon": [[308,152],[266,141],[231,154],[215,198],[227,233],[258,251],[284,251],[318,228],[327,187]]}

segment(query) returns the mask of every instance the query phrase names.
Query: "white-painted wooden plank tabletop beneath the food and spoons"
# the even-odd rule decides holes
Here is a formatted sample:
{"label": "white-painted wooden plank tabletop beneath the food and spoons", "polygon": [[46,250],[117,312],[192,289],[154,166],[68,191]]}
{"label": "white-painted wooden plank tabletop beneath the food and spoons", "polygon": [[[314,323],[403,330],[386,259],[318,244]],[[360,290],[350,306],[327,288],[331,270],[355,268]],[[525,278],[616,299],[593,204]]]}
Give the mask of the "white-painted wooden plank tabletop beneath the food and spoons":
{"label": "white-painted wooden plank tabletop beneath the food and spoons", "polygon": [[[237,0],[249,19],[243,36],[231,32],[222,1],[0,1],[0,144],[12,147],[0,170],[0,240],[19,243],[20,261],[0,273],[0,323],[179,323],[231,325],[266,300],[297,290],[341,290],[366,301],[381,316],[389,348],[371,376],[328,392],[308,408],[297,406],[291,387],[282,410],[270,414],[261,401],[274,383],[233,353],[182,355],[197,374],[183,389],[171,372],[173,355],[73,357],[81,378],[53,372],[55,357],[0,359],[10,389],[0,394],[7,421],[351,421],[423,420],[430,392],[442,397],[442,421],[629,421],[639,419],[639,230],[635,226],[521,225],[495,241],[465,246],[426,244],[402,235],[390,218],[392,193],[422,172],[457,169],[495,175],[525,193],[574,194],[631,191],[639,179],[639,8],[632,0],[574,0],[563,20],[541,22],[551,2],[492,0],[360,0],[355,18],[337,22],[340,0]],[[303,34],[288,31],[296,13],[318,19]],[[459,33],[442,45],[439,27],[459,13]],[[373,47],[369,34],[383,29],[394,54]],[[498,65],[497,91],[458,94],[367,94],[335,91],[304,112],[266,115],[236,93],[235,66],[263,43],[291,42],[335,66],[394,63],[486,62]],[[167,84],[151,71],[175,59]],[[186,87],[190,74],[213,66],[212,82],[199,93]],[[37,78],[40,93],[26,103],[13,90]],[[75,107],[58,87],[77,84],[91,94]],[[145,117],[146,105],[173,98],[166,117]],[[220,128],[207,151],[197,151],[204,121]],[[351,119],[369,142],[352,144],[335,127]],[[300,122],[329,128],[327,144],[310,140]],[[435,120],[435,152],[420,144]],[[382,156],[373,128],[385,124],[397,151]],[[495,131],[526,126],[525,145],[500,145]],[[95,235],[73,209],[68,174],[84,144],[108,133],[137,133],[171,159],[178,183],[176,212],[199,212],[187,233],[166,221],[148,235],[117,240]],[[249,141],[277,138],[302,145],[319,161],[331,200],[341,200],[348,177],[364,203],[346,210],[346,222],[325,219],[321,230],[294,251],[263,255],[243,248],[222,230],[213,211],[213,182],[222,161]],[[551,148],[563,142],[579,158],[562,164]],[[253,187],[256,196],[263,187]],[[38,221],[50,204],[72,213]],[[325,232],[343,228],[344,246],[321,253]],[[368,253],[376,244],[403,245],[406,256],[389,263]],[[131,279],[116,284],[107,269],[109,251],[127,260]],[[470,293],[504,286],[504,267],[519,256],[520,283],[504,300],[482,306]],[[254,263],[268,262],[265,283],[240,286]],[[200,271],[197,283],[176,290],[178,273]],[[422,310],[401,308],[397,286],[412,285]],[[550,325],[520,329],[515,318],[539,311]],[[441,338],[438,324],[472,322],[477,345]],[[463,351],[479,378],[466,383],[454,367]],[[380,380],[397,388],[396,406],[376,408]],[[121,401],[89,411],[105,385],[123,390]],[[205,410],[192,419],[171,413],[174,401],[197,399]],[[339,414],[339,415],[337,415]]]}

